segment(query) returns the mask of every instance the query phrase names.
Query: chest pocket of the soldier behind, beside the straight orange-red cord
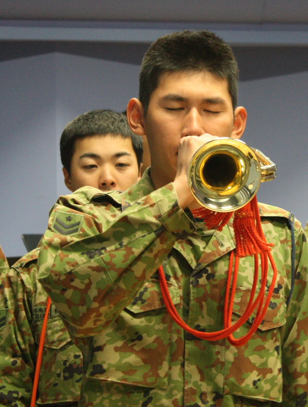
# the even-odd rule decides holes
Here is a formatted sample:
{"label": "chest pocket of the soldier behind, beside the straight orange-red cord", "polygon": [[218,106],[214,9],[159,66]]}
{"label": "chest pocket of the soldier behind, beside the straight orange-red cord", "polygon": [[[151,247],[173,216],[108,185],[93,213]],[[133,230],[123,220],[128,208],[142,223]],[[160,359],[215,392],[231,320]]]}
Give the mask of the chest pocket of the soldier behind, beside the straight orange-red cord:
{"label": "chest pocket of the soldier behind, beside the straight orange-red cord", "polygon": [[[37,347],[42,324],[42,321],[34,324]],[[82,367],[82,354],[73,345],[61,318],[54,316],[48,319],[37,404],[78,401]]]}

